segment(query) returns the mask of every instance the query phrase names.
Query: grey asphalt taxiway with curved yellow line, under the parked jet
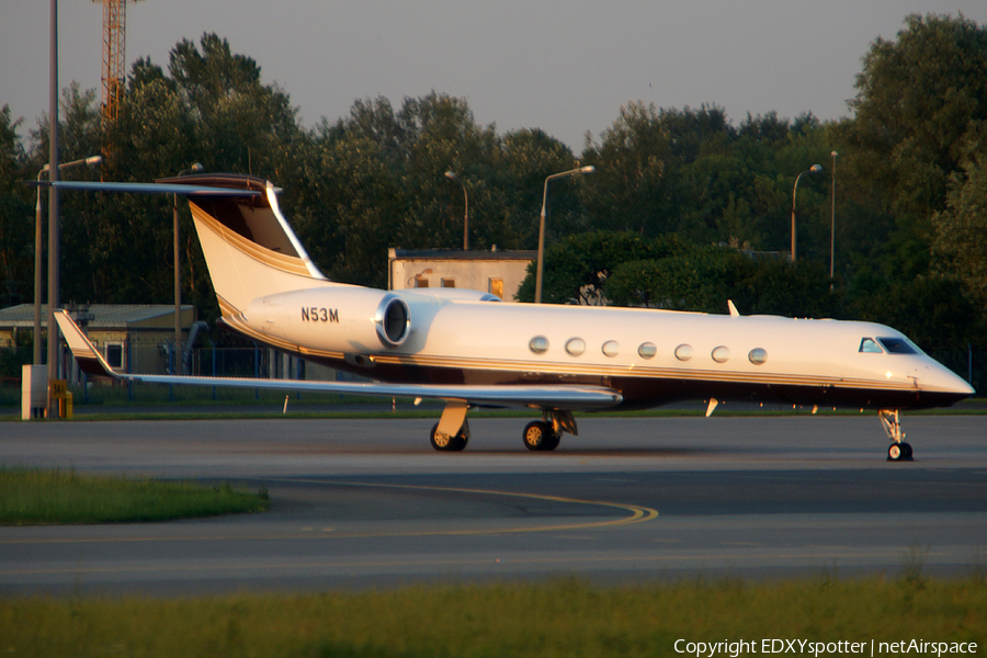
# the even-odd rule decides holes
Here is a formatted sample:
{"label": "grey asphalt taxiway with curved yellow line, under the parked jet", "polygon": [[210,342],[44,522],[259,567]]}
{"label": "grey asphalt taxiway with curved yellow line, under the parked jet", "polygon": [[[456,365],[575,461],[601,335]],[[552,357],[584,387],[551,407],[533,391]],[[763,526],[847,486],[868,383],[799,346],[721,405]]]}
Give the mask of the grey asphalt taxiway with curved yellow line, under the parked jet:
{"label": "grey asphalt taxiway with curved yellow line, under the parked jet", "polygon": [[0,423],[0,464],[264,487],[263,514],[0,527],[0,594],[393,587],[576,574],[963,575],[987,568],[987,417],[581,417],[530,453],[527,419]]}

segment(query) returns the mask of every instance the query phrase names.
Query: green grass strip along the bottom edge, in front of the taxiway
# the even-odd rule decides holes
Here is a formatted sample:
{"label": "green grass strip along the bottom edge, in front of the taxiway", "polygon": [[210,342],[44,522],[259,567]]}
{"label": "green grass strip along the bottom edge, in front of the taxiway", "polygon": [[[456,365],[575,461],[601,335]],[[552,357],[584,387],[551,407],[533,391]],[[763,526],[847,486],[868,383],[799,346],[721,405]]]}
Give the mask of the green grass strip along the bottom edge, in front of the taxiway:
{"label": "green grass strip along the bottom edge, in front of the taxiway", "polygon": [[681,656],[678,639],[755,642],[750,654],[779,638],[975,642],[983,655],[985,636],[987,585],[977,576],[0,599],[0,651],[13,656],[633,658]]}

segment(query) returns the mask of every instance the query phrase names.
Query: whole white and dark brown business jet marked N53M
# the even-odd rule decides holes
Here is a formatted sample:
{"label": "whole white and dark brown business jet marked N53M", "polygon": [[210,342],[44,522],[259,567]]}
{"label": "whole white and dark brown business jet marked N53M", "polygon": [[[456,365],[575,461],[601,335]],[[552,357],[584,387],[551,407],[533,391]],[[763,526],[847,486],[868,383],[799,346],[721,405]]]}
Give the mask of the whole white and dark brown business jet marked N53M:
{"label": "whole white and dark brown business jet marked N53M", "polygon": [[541,410],[533,451],[577,433],[572,411],[679,400],[874,409],[892,461],[911,458],[899,411],[948,407],[974,389],[899,331],[872,322],[640,308],[513,304],[474,291],[381,291],[336,283],[311,262],[260,178],[198,174],[156,184],[56,183],[189,198],[220,322],[368,383],[238,379],[114,371],[65,311],[84,372],[133,382],[227,385],[444,400],[435,450],[461,451],[470,407]]}

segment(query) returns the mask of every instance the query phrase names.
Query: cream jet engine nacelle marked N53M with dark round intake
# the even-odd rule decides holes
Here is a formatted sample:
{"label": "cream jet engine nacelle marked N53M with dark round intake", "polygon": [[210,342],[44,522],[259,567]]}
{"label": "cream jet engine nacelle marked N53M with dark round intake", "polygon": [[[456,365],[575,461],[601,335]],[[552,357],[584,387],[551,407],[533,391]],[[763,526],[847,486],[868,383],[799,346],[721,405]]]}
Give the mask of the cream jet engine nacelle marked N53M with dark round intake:
{"label": "cream jet engine nacelle marked N53M with dark round intake", "polygon": [[399,348],[411,334],[408,304],[386,291],[348,285],[259,297],[246,322],[272,342],[332,352],[372,353]]}

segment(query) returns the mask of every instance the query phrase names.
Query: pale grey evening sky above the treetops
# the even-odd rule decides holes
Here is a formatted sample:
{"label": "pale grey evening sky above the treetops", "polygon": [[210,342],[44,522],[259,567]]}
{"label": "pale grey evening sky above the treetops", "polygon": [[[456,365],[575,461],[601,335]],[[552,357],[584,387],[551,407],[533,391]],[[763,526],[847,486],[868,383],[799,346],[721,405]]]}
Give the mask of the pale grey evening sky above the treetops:
{"label": "pale grey evening sky above the treetops", "polygon": [[[102,5],[59,1],[59,86],[100,94]],[[0,106],[48,107],[49,2],[3,0]],[[962,12],[984,0],[145,0],[127,5],[127,71],[204,32],[229,39],[299,107],[303,124],[349,113],[355,99],[431,90],[465,98],[499,133],[542,128],[578,155],[628,101],[723,106],[794,118],[850,114],[861,57],[908,13]]]}

